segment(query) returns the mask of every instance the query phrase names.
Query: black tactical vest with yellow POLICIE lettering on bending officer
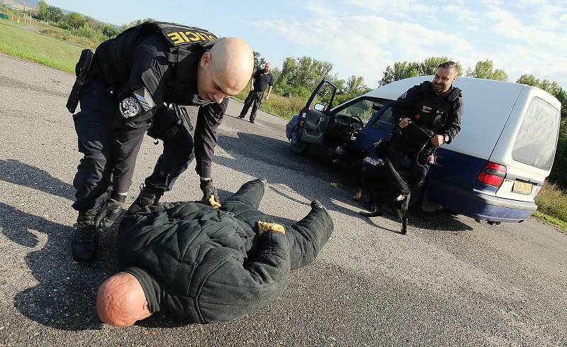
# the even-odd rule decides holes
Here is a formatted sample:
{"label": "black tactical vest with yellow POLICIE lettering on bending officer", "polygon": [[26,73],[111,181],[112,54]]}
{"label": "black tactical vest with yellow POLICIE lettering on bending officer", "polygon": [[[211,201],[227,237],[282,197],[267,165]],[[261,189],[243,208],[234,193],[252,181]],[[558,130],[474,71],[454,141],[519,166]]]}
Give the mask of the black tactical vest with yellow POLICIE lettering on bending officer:
{"label": "black tactical vest with yellow POLICIE lettering on bending officer", "polygon": [[[166,52],[165,55],[175,71],[175,78],[168,83],[168,88],[173,89],[184,89],[191,78],[194,78],[195,59],[191,59],[191,55],[201,57],[202,53],[210,49],[217,39],[213,33],[204,29],[176,23],[147,21],[128,28],[116,38],[101,44],[101,46],[108,44],[108,47],[101,48],[106,51],[108,59],[103,59],[99,65],[109,84],[117,86],[128,81],[132,62],[124,54],[126,49],[133,48],[140,35],[156,32],[161,33],[169,43],[169,52]],[[184,67],[184,65],[187,66]]]}

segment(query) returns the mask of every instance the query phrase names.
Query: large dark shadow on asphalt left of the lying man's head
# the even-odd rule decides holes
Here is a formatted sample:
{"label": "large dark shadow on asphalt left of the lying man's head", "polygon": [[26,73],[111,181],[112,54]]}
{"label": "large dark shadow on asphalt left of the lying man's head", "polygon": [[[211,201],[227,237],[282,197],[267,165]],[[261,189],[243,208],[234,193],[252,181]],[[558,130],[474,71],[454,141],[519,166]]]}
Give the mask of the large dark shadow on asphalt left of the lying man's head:
{"label": "large dark shadow on asphalt left of the lying man's head", "polygon": [[[94,298],[104,277],[101,268],[108,266],[107,262],[78,265],[70,253],[72,227],[3,203],[0,203],[0,227],[18,245],[40,247],[25,257],[38,284],[16,294],[14,307],[44,326],[73,331],[100,329]],[[43,237],[38,239],[30,230],[45,234],[45,245],[40,242]]]}

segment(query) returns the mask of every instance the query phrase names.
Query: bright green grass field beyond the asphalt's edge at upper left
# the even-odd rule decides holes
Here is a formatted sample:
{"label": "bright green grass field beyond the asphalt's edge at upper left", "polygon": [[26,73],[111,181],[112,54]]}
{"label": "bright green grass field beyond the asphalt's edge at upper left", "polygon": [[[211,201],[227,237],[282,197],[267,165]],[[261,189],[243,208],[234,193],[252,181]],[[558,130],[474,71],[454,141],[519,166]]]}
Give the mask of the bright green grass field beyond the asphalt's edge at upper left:
{"label": "bright green grass field beyond the asphalt's edge at upper left", "polygon": [[74,72],[83,48],[38,33],[38,27],[0,19],[0,52]]}

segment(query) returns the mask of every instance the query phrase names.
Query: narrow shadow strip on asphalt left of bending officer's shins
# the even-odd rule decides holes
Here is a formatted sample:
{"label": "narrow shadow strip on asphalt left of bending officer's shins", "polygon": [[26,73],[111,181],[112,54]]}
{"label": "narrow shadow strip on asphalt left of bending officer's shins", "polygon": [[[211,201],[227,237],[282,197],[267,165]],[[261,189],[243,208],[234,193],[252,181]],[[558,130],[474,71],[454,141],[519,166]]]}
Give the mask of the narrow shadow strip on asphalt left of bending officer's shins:
{"label": "narrow shadow strip on asphalt left of bending officer's shins", "polygon": [[75,189],[71,184],[52,177],[38,167],[18,160],[0,160],[0,180],[23,187],[38,189],[57,197],[73,200]]}

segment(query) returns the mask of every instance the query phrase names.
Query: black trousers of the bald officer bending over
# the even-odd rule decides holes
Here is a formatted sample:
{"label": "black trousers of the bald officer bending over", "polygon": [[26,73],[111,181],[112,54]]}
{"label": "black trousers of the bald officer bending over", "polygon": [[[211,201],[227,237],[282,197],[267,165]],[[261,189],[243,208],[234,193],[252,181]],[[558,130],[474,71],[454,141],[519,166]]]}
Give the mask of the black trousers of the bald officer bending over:
{"label": "black trousers of the bald officer bending over", "polygon": [[[113,172],[113,120],[117,116],[118,101],[106,93],[106,83],[101,79],[89,79],[81,92],[81,111],[74,114],[73,121],[79,143],[79,152],[83,153],[73,187],[77,189],[73,209],[84,211],[99,206],[106,200],[108,188],[112,186]],[[159,111],[154,121],[159,121]],[[137,153],[144,134],[152,125],[133,128],[128,133],[133,158],[129,165],[135,165]],[[193,138],[181,129],[164,143],[164,150],[159,156],[154,172],[145,180],[146,184],[170,190],[181,172],[193,160]]]}

